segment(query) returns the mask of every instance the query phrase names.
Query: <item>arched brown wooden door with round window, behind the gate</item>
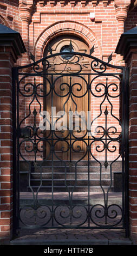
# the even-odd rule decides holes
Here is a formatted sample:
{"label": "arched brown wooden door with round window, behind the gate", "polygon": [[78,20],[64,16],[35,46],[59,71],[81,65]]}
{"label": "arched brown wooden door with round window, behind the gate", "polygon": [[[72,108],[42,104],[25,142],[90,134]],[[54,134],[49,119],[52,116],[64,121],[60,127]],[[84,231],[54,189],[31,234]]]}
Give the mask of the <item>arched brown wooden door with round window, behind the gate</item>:
{"label": "arched brown wooden door with round window, behind the gate", "polygon": [[[80,69],[80,65],[71,65],[71,70],[69,69],[69,65],[67,65],[67,61],[71,61],[73,63],[73,59],[76,58],[74,56],[65,56],[65,52],[69,51],[69,46],[71,45],[73,52],[78,53],[87,53],[89,54],[89,47],[80,38],[72,35],[62,35],[58,36],[54,40],[50,41],[50,50],[52,49],[52,54],[62,52],[62,55],[53,57],[50,60],[50,68],[48,69],[47,77],[51,83],[54,83],[54,95],[53,99],[51,100],[51,94],[46,98],[46,102],[44,102],[44,110],[50,113],[50,123],[51,123],[51,106],[54,107],[53,112],[53,119],[54,124],[56,122],[56,135],[58,138],[61,138],[62,141],[58,141],[55,146],[55,160],[57,157],[61,160],[68,160],[68,161],[75,161],[80,159],[84,156],[84,152],[86,152],[86,145],[82,141],[71,142],[71,149],[69,148],[70,145],[67,142],[63,141],[63,137],[67,136],[68,130],[67,129],[58,129],[58,126],[62,126],[61,112],[64,111],[67,114],[67,126],[70,127],[70,120],[69,120],[69,111],[79,113],[79,117],[73,115],[73,134],[80,138],[84,135],[84,124],[82,124],[82,119],[86,118],[88,109],[88,96],[82,96],[87,90],[86,81],[88,76],[86,75],[90,70],[89,60],[83,59],[82,57],[79,60],[79,64],[82,66],[82,77],[76,76],[76,72]],[[45,48],[44,57],[50,55],[49,46]],[[75,59],[76,61],[76,59]],[[74,76],[69,76],[70,73],[75,72]],[[51,74],[53,74],[53,78],[51,78]],[[51,81],[53,79],[53,81]],[[49,83],[46,82],[47,91],[49,90]],[[68,90],[69,87],[73,87],[73,99],[69,97],[68,99]],[[67,96],[65,96],[67,95]],[[76,97],[75,95],[79,95]],[[84,117],[84,113],[86,114]],[[81,116],[81,114],[83,114]],[[58,120],[57,120],[58,119]],[[81,130],[82,127],[82,130]],[[48,134],[48,131],[46,131]],[[45,157],[49,154],[49,145],[45,143],[44,145]],[[79,156],[78,156],[79,153]],[[56,157],[57,156],[57,157]],[[87,160],[86,157],[83,160]]]}

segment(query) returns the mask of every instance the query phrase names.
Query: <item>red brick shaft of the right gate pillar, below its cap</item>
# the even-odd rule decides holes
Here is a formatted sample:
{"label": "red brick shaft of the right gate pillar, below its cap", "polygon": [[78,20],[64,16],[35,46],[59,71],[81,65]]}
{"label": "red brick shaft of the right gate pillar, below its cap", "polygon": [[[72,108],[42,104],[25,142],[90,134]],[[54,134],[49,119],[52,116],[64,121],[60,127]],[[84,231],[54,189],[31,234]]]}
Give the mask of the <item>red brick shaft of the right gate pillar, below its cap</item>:
{"label": "red brick shaft of the right gate pillar, below its cap", "polygon": [[128,65],[129,80],[129,220],[132,239],[137,242],[137,90],[136,65],[137,51],[133,52]]}

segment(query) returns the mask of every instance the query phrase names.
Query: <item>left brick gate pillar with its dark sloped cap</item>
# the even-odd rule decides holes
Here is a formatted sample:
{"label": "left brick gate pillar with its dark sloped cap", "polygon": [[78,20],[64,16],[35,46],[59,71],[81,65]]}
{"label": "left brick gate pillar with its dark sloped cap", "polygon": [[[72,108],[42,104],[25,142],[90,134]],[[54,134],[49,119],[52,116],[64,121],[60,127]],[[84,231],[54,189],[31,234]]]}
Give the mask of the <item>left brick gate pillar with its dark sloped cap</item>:
{"label": "left brick gate pillar with its dark sloped cap", "polygon": [[12,237],[12,67],[25,52],[21,35],[0,25],[0,242]]}

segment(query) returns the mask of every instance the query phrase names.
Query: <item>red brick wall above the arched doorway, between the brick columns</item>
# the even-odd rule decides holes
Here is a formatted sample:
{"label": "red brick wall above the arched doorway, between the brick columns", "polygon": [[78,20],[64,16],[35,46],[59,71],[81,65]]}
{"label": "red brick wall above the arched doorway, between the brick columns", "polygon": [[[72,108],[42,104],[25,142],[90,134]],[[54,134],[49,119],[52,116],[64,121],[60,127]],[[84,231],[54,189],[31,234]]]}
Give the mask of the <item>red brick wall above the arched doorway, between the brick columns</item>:
{"label": "red brick wall above the arched doorway, between the brick columns", "polygon": [[[87,33],[94,34],[99,44],[97,46],[100,47],[101,51],[96,51],[96,56],[101,57],[101,55],[103,55],[105,59],[112,51],[114,52],[116,42],[118,41],[114,1],[109,2],[107,7],[104,6],[103,2],[93,5],[92,1],[88,1],[85,7],[82,7],[81,1],[76,1],[74,7],[71,7],[71,1],[64,2],[64,7],[61,7],[59,1],[54,7],[51,6],[49,1],[47,1],[43,7],[41,7],[38,2],[36,2],[37,4],[35,3],[35,13],[30,23],[31,51],[35,50],[37,41],[43,35],[43,32],[47,31],[48,37],[59,31],[62,22],[73,22],[73,26],[70,26],[70,29],[73,29],[74,34],[76,31],[79,31],[81,34],[84,33],[85,35],[87,35]],[[95,20],[91,21],[89,15],[90,12],[94,11]],[[53,27],[53,25],[55,26]],[[81,28],[81,25],[84,28],[88,28],[90,32],[86,30],[82,31],[83,28]],[[65,30],[65,25],[63,25],[61,29]],[[41,54],[42,53],[43,51],[41,51]],[[39,54],[38,57],[40,57]]]}

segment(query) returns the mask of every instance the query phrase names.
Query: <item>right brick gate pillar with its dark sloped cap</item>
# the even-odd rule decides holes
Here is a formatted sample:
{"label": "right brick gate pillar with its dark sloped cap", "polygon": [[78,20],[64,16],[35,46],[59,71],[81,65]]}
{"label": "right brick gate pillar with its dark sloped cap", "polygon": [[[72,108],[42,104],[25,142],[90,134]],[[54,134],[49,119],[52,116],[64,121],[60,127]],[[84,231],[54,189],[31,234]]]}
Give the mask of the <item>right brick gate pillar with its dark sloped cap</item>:
{"label": "right brick gate pillar with its dark sloped cap", "polygon": [[129,67],[129,224],[137,243],[137,27],[121,35],[116,53]]}

